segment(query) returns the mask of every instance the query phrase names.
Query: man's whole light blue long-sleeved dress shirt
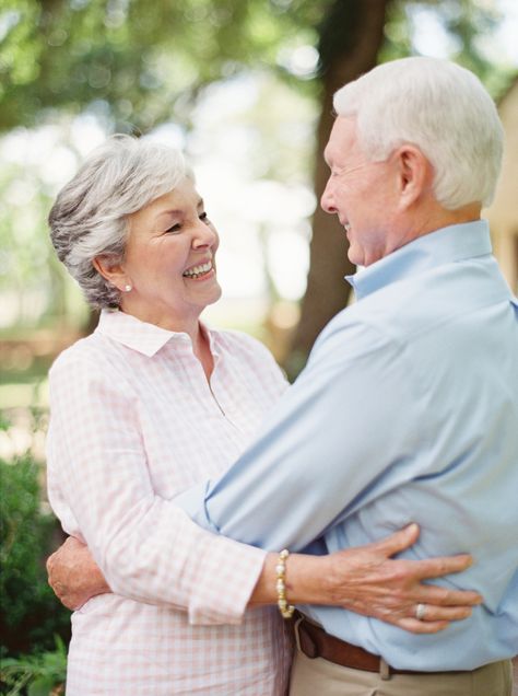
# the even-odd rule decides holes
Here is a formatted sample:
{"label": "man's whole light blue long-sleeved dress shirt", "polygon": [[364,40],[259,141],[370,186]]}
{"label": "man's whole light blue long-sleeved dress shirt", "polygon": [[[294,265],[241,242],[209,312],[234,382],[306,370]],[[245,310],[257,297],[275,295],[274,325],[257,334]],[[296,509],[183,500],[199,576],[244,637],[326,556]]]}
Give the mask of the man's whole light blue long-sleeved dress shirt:
{"label": "man's whole light blue long-sleeved dress shirt", "polygon": [[448,227],[350,278],[338,314],[251,448],[177,501],[202,526],[267,549],[322,554],[414,521],[407,558],[469,552],[439,583],[484,604],[415,636],[334,607],[328,633],[417,671],[518,652],[518,302],[485,221]]}

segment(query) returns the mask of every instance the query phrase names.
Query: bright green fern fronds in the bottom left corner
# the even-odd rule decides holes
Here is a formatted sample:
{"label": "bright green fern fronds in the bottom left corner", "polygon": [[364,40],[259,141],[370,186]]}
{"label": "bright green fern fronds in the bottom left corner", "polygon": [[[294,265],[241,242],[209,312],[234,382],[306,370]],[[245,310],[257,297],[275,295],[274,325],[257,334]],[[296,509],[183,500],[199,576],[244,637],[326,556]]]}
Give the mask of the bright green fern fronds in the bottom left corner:
{"label": "bright green fern fronds in the bottom left corner", "polygon": [[67,649],[59,636],[51,651],[21,658],[5,658],[0,665],[0,688],[7,696],[62,694],[67,675]]}

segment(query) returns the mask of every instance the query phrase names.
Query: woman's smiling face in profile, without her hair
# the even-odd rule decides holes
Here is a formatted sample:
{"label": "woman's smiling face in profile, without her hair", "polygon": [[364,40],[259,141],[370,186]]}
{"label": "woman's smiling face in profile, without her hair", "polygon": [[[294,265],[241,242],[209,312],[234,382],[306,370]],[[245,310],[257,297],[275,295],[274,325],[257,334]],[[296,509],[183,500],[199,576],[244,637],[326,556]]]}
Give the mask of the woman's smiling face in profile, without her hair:
{"label": "woman's smiling face in profile, without her hair", "polygon": [[220,241],[203,200],[185,177],[128,221],[121,269],[132,289],[122,292],[121,309],[144,322],[183,330],[221,297],[214,264]]}

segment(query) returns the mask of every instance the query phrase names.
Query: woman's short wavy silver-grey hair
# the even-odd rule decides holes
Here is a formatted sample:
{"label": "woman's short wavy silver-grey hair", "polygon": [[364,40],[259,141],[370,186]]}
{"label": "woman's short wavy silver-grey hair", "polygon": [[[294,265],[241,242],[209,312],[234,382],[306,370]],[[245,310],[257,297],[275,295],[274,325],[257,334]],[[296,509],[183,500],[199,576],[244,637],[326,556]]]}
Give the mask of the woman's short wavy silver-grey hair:
{"label": "woman's short wavy silver-grey hair", "polygon": [[122,260],[128,216],[192,178],[181,152],[146,138],[116,135],[58,194],[48,222],[59,259],[95,308],[115,308],[120,291],[96,270],[96,256]]}

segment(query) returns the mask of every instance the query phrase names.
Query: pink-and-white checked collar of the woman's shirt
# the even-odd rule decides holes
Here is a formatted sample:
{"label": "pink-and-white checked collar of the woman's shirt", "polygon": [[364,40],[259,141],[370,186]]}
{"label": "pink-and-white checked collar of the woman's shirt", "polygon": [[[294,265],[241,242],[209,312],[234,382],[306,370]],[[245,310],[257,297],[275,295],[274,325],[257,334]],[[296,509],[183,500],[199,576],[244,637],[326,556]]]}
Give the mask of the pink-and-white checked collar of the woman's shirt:
{"label": "pink-and-white checked collar of the woman's shirt", "polygon": [[[212,348],[213,336],[203,324],[202,327],[209,335]],[[191,344],[190,336],[185,332],[169,332],[155,324],[141,322],[136,316],[119,310],[103,310],[95,330],[149,358],[157,353],[169,340]]]}

